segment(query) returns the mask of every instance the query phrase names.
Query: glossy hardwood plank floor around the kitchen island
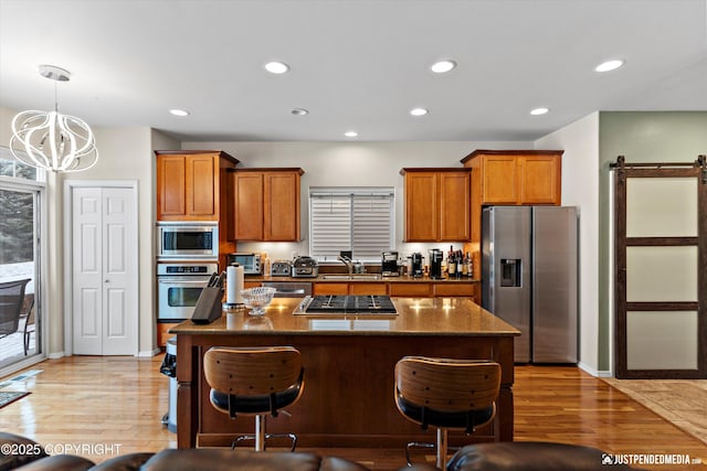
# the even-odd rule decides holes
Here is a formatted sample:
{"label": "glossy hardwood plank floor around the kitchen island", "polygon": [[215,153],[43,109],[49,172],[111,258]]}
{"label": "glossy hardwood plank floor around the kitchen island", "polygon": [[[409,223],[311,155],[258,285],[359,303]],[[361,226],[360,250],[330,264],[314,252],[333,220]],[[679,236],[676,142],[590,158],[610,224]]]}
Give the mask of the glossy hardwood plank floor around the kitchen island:
{"label": "glossy hardwood plank floor around the kitchen island", "polygon": [[[160,424],[168,407],[168,378],[159,373],[161,360],[162,355],[150,360],[73,356],[34,365],[28,371],[41,372],[24,378],[28,371],[0,378],[3,390],[32,393],[0,409],[0,430],[94,461],[176,447],[176,435]],[[9,381],[13,377],[20,379]],[[578,443],[611,453],[686,453],[707,463],[704,442],[576,367],[517,367],[515,404],[517,441]],[[404,465],[403,450],[312,451],[379,470]],[[419,457],[433,460],[432,456]],[[705,465],[692,469],[704,470]]]}

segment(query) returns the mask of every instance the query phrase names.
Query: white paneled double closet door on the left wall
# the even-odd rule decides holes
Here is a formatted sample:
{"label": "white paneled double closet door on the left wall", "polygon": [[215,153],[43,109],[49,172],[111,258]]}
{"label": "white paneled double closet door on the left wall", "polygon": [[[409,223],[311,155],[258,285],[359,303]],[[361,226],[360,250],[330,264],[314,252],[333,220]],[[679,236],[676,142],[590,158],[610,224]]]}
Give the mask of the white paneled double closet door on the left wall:
{"label": "white paneled double closet door on the left wall", "polygon": [[137,353],[137,231],[130,188],[72,191],[74,354]]}

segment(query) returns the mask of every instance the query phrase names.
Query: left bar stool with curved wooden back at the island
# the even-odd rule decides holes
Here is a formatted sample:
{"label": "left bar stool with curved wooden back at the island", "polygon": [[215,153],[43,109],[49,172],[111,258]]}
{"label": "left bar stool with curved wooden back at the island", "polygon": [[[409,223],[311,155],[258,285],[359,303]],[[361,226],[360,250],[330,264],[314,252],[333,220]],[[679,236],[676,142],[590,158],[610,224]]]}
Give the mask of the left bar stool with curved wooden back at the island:
{"label": "left bar stool with curved wooden back at the island", "polygon": [[304,390],[304,368],[299,351],[292,346],[226,347],[213,346],[203,355],[203,372],[213,407],[235,419],[238,415],[255,416],[255,435],[238,437],[255,439],[255,451],[265,450],[265,440],[287,437],[295,451],[294,433],[265,432],[267,415],[277,417],[279,409],[295,404]]}

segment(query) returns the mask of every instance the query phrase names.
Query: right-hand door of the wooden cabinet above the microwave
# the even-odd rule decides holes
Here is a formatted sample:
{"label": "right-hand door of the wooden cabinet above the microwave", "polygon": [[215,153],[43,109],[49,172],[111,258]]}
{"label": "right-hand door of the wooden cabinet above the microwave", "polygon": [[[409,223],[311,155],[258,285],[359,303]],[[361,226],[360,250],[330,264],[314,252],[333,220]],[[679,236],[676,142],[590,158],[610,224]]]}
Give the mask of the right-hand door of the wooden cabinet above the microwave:
{"label": "right-hand door of the wooden cabinet above the microwave", "polygon": [[187,214],[198,220],[218,220],[219,162],[214,156],[187,158]]}

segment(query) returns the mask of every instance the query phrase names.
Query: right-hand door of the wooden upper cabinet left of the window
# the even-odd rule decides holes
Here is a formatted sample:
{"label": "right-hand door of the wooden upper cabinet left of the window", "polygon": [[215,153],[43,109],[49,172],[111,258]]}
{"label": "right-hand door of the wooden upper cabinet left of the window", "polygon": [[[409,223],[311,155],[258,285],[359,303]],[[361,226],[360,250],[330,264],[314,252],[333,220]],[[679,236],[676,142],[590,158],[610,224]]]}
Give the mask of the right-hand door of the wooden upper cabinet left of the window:
{"label": "right-hand door of the wooden upper cabinet left of the window", "polygon": [[299,240],[299,173],[264,173],[265,240]]}

